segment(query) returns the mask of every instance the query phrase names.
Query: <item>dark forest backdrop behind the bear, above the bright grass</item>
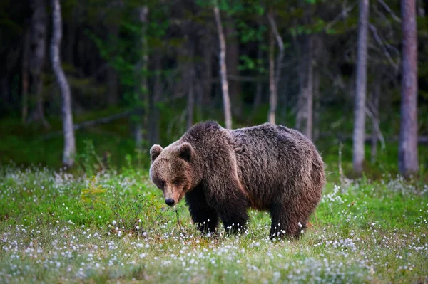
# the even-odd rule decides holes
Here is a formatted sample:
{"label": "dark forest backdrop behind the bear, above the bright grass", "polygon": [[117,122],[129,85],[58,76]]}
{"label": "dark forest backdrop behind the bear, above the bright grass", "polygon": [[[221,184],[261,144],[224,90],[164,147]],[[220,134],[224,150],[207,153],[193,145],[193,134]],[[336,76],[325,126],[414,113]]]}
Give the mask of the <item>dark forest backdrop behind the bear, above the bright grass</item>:
{"label": "dark forest backdrop behind the bear, above the bright grass", "polygon": [[[340,164],[345,174],[376,177],[428,166],[428,1],[61,1],[71,162],[63,154],[66,89],[51,60],[54,2],[0,3],[1,164],[148,167],[152,144],[169,144],[201,120],[227,124],[227,83],[233,128],[272,119],[295,127],[327,171]],[[417,38],[406,29],[412,20]],[[411,52],[417,66],[403,68]]]}

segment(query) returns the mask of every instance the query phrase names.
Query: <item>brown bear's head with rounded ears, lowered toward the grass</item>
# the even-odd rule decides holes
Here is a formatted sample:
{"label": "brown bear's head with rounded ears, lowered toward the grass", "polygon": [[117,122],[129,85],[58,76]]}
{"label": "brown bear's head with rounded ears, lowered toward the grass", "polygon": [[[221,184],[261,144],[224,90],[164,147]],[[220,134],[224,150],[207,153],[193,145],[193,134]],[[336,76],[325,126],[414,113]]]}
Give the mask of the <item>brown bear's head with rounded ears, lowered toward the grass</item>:
{"label": "brown bear's head with rounded ears, lowered toward the grass", "polygon": [[186,192],[200,182],[195,169],[195,150],[189,143],[171,145],[163,149],[153,145],[150,149],[150,178],[163,191],[165,203],[178,204]]}

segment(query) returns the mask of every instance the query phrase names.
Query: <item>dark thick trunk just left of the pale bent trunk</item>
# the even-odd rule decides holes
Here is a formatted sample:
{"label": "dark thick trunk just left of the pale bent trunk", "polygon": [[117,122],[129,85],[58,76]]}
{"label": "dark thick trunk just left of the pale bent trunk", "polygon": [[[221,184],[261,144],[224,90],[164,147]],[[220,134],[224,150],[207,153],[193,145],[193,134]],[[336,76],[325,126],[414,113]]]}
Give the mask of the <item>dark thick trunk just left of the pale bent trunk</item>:
{"label": "dark thick trunk just left of the pale bent trunk", "polygon": [[[34,95],[36,105],[31,113],[31,120],[41,121],[45,127],[49,123],[44,117],[43,80],[42,73],[46,57],[46,6],[44,0],[31,1],[31,29],[29,70],[31,74],[31,94]],[[62,28],[62,27],[61,27]]]}

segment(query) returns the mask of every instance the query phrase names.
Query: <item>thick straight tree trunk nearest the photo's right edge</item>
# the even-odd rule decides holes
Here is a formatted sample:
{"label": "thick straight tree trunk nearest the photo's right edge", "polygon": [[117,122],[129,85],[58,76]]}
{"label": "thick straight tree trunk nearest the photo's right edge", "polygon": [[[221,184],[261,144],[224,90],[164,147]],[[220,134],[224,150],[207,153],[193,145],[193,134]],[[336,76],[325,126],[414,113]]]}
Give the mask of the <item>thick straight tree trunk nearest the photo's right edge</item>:
{"label": "thick straight tree trunk nearest the photo's right edge", "polygon": [[419,171],[417,157],[417,23],[415,0],[401,0],[402,100],[399,172],[406,178]]}

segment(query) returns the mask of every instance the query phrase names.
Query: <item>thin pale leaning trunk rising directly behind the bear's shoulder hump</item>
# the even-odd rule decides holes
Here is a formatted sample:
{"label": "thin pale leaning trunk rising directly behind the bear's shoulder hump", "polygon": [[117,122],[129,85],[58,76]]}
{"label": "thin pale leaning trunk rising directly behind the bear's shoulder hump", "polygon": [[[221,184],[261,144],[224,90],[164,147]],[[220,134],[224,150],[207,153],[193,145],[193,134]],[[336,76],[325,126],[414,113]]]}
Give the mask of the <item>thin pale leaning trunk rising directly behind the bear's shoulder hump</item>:
{"label": "thin pale leaning trunk rising directly behind the bear's shoulder hump", "polygon": [[225,112],[225,126],[228,129],[232,128],[232,113],[230,111],[230,98],[229,98],[229,85],[228,85],[228,73],[226,68],[226,43],[225,34],[223,33],[223,26],[221,25],[220,11],[218,10],[217,1],[214,6],[215,23],[218,28],[218,40],[220,41],[220,76],[221,86],[223,90],[223,108]]}

